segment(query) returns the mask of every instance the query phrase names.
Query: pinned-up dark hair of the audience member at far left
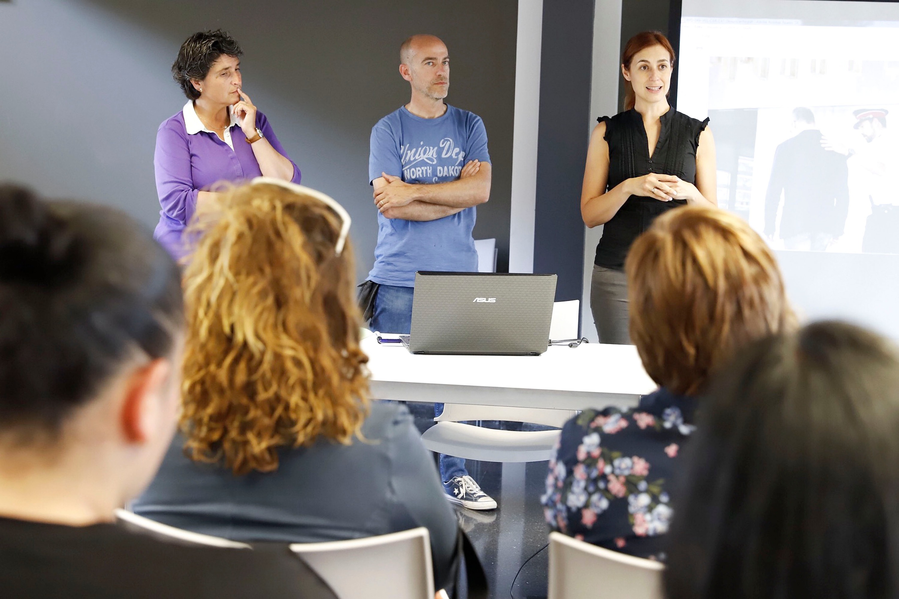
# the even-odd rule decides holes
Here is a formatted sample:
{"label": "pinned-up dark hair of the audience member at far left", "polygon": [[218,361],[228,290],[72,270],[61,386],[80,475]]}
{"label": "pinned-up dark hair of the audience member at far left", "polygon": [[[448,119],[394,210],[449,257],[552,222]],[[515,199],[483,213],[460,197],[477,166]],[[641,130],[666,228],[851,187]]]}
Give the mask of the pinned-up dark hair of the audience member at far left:
{"label": "pinned-up dark hair of the audience member at far left", "polygon": [[72,410],[183,328],[180,271],[110,207],[0,185],[0,433],[55,439]]}

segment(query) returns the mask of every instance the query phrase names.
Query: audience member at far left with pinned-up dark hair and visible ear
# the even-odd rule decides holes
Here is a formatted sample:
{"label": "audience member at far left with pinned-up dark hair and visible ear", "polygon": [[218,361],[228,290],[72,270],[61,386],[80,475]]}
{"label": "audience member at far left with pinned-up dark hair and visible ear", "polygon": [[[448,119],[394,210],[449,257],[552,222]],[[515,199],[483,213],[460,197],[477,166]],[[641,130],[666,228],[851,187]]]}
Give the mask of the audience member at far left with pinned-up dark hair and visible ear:
{"label": "audience member at far left with pinned-up dark hair and visible ear", "polygon": [[0,186],[4,597],[334,597],[286,546],[115,524],[174,433],[182,318],[176,264],[128,216]]}

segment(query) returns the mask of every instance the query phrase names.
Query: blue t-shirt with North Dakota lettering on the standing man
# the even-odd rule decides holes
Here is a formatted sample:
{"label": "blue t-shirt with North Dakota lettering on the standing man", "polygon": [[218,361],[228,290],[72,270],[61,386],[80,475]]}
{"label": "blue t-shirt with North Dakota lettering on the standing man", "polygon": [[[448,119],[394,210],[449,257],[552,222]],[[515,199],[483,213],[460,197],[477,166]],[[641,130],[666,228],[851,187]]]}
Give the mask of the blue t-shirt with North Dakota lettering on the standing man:
{"label": "blue t-shirt with North Dakota lettering on the standing man", "polygon": [[[369,183],[382,172],[399,175],[407,183],[456,181],[469,160],[489,163],[490,154],[484,121],[467,110],[448,105],[442,117],[422,119],[404,106],[371,129]],[[475,218],[475,207],[426,222],[378,213],[378,245],[369,279],[411,287],[416,270],[476,271],[471,236]]]}

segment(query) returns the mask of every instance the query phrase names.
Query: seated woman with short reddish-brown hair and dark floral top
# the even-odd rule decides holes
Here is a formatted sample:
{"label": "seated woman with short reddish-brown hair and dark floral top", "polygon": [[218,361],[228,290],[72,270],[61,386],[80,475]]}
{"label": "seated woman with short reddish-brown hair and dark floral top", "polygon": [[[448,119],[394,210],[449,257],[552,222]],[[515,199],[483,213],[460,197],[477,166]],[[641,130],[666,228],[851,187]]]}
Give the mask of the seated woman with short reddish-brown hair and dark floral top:
{"label": "seated woman with short reddish-brown hair and dark floral top", "polygon": [[697,393],[735,348],[793,322],[777,262],[738,216],[684,207],[631,246],[630,337],[660,388],[634,410],[584,410],[565,423],[541,498],[553,530],[664,559],[669,493],[694,430]]}

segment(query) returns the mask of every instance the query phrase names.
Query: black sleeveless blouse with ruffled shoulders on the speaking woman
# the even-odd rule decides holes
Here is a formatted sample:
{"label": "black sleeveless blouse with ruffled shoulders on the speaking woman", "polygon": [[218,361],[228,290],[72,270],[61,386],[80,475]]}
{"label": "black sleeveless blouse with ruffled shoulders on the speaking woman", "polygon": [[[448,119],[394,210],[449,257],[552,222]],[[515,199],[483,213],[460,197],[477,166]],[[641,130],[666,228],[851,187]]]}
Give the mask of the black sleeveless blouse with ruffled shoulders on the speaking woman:
{"label": "black sleeveless blouse with ruffled shoulders on the speaking woman", "polygon": [[[662,131],[649,157],[649,141],[643,126],[643,116],[634,109],[619,112],[614,117],[601,117],[606,123],[605,140],[609,144],[609,182],[613,189],[621,181],[642,177],[650,172],[676,175],[683,181],[696,184],[696,148],[699,134],[708,119],[691,119],[677,110],[662,115]],[[602,237],[596,246],[593,263],[606,269],[623,270],[630,244],[652,225],[656,216],[687,203],[685,199],[663,202],[654,198],[631,196],[602,227]]]}

